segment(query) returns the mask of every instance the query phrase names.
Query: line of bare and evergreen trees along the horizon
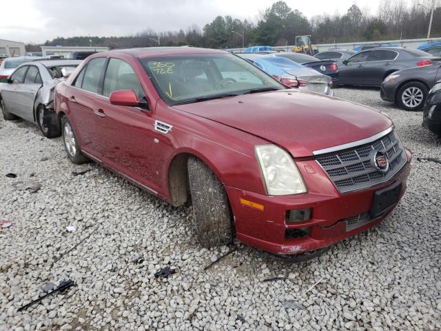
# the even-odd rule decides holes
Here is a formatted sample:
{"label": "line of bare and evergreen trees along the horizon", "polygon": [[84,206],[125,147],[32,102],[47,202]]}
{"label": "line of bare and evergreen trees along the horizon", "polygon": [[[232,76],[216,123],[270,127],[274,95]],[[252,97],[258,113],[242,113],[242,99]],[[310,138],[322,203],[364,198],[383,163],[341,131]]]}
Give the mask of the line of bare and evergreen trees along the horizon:
{"label": "line of bare and evergreen trees along the horizon", "polygon": [[[290,8],[285,1],[278,1],[260,12],[256,22],[218,16],[202,30],[194,25],[179,31],[144,30],[126,37],[57,37],[44,45],[134,48],[158,46],[159,42],[160,46],[240,48],[293,45],[295,37],[302,34],[311,34],[313,43],[425,38],[431,0],[412,1],[409,5],[405,0],[382,0],[376,14],[353,4],[345,14],[320,14],[311,19]],[[441,8],[435,8],[431,36],[440,35]],[[28,51],[37,48],[36,45],[27,45]]]}

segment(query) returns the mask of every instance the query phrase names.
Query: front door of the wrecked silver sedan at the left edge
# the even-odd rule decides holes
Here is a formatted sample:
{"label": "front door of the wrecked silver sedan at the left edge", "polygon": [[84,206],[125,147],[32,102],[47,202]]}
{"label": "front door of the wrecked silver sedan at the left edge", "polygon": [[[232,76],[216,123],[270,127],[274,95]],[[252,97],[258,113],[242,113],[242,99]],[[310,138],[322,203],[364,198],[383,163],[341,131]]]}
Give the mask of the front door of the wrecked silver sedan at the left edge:
{"label": "front door of the wrecked silver sedan at the left edge", "polygon": [[11,74],[10,83],[4,84],[1,88],[1,98],[6,108],[9,112],[19,117],[24,117],[25,114],[25,105],[23,104],[23,99],[19,91],[21,90],[20,86],[23,84],[28,68],[29,66],[23,66],[15,70],[14,73]]}

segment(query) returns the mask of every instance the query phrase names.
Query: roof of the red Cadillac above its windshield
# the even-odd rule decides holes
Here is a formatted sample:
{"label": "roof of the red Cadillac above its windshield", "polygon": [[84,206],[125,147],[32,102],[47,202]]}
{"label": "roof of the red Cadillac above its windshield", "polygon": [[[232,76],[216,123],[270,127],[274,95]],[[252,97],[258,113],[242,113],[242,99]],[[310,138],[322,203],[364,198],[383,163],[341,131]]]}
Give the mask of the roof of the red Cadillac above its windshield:
{"label": "roof of the red Cadillac above its windshield", "polygon": [[[209,48],[196,47],[147,47],[147,48],[128,48],[124,50],[110,50],[107,52],[99,52],[94,57],[109,56],[115,53],[123,53],[143,59],[145,57],[161,57],[167,55],[187,55],[187,54],[229,54],[224,50],[212,50]],[[97,55],[99,54],[99,55]]]}

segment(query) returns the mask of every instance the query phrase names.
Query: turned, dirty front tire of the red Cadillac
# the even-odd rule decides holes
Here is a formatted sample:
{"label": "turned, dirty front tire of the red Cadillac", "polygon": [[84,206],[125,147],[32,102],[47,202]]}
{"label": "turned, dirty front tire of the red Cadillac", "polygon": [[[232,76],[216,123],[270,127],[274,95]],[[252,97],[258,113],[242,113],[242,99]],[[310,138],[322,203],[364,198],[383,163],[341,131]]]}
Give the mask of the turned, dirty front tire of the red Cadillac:
{"label": "turned, dirty front tire of the red Cadillac", "polygon": [[232,212],[223,184],[201,159],[190,157],[187,166],[198,242],[205,248],[231,243]]}

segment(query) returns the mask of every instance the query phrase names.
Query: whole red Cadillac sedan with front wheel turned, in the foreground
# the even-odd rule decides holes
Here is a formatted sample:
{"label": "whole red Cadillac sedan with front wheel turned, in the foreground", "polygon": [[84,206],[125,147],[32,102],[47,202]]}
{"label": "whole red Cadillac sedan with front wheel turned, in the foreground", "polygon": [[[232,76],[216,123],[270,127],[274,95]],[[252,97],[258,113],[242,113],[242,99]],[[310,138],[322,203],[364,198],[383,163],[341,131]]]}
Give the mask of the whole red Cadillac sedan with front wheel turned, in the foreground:
{"label": "whole red Cadillac sedan with front wheel turned, in the foreground", "polygon": [[275,254],[331,245],[382,221],[411,153],[376,110],[287,88],[234,54],[94,54],[57,86],[69,159],[92,159],[178,206],[209,248]]}

